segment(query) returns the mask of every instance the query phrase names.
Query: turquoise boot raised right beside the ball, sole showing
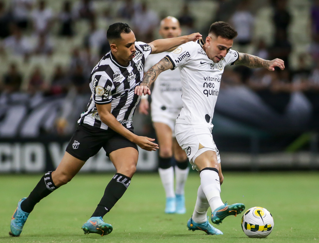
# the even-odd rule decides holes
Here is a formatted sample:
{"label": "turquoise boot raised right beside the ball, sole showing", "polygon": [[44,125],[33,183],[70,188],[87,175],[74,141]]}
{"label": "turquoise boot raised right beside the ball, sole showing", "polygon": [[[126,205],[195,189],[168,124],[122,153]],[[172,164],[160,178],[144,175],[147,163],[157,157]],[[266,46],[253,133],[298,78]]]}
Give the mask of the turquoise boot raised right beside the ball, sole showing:
{"label": "turquoise boot raised right beside the ball, sole showing", "polygon": [[223,219],[227,216],[234,215],[235,217],[237,214],[240,214],[242,211],[245,210],[245,205],[242,203],[236,203],[232,205],[222,205],[218,208],[216,208],[211,213],[211,222],[219,225],[219,223],[222,223]]}

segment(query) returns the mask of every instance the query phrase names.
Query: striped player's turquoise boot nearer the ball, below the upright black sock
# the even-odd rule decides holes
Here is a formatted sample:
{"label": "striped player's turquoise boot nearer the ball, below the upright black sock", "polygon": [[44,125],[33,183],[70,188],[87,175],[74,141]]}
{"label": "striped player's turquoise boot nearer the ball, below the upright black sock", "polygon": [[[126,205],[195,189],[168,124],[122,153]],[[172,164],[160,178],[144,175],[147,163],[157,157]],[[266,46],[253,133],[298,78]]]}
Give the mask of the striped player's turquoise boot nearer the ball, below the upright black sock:
{"label": "striped player's turquoise boot nearer the ball, below the upright black sock", "polygon": [[91,217],[84,223],[82,230],[84,231],[84,234],[96,233],[103,236],[111,233],[113,227],[110,224],[104,223],[102,217]]}

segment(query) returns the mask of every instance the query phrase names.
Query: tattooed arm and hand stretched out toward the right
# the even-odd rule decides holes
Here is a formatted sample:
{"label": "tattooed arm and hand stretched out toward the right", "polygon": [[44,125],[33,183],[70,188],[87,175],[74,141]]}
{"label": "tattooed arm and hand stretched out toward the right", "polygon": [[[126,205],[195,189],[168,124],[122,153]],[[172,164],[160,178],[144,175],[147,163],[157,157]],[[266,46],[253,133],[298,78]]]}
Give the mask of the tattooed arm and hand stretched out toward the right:
{"label": "tattooed arm and hand stretched out toward the right", "polygon": [[281,70],[285,69],[284,61],[279,58],[269,61],[246,53],[239,53],[239,58],[234,64],[249,68],[267,68],[269,71],[274,71],[275,67],[279,67]]}

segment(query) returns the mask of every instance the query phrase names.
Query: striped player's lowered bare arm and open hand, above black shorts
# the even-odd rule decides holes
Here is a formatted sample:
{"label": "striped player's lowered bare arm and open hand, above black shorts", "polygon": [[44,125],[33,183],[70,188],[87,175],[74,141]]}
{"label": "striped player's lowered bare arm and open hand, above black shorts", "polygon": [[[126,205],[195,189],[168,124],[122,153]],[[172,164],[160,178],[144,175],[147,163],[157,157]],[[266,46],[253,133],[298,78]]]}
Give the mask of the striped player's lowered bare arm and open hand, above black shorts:
{"label": "striped player's lowered bare arm and open hand, above black shorts", "polygon": [[111,103],[103,105],[96,104],[96,109],[98,110],[100,119],[104,124],[106,124],[115,132],[121,134],[123,137],[129,139],[131,142],[136,143],[142,149],[147,151],[155,151],[159,148],[156,143],[152,142],[155,139],[137,136],[133,132],[130,132],[128,129],[126,129],[121,123],[119,123],[115,116],[113,116],[111,113]]}

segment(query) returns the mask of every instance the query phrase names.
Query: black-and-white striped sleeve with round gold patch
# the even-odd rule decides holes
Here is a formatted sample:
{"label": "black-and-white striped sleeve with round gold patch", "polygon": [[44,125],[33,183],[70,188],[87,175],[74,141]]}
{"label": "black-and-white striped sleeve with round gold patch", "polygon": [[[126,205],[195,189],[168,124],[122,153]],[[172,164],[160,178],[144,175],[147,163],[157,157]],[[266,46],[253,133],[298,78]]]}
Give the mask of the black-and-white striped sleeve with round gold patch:
{"label": "black-and-white striped sleeve with round gold patch", "polygon": [[109,104],[112,101],[113,82],[104,75],[92,76],[92,96],[96,104]]}

